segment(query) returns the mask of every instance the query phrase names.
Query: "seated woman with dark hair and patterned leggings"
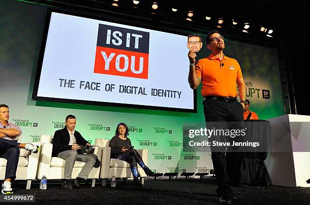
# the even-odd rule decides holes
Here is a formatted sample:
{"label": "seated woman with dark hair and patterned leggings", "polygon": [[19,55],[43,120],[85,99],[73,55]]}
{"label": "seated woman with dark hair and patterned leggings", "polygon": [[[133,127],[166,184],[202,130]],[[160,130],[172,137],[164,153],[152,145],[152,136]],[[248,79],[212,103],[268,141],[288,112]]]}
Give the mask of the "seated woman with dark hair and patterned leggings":
{"label": "seated woman with dark hair and patterned leggings", "polygon": [[154,176],[154,173],[145,166],[141,156],[136,149],[129,149],[126,146],[131,146],[131,141],[128,138],[128,127],[125,123],[118,124],[114,137],[110,140],[109,147],[111,147],[111,158],[123,160],[130,164],[130,169],[134,177],[134,185],[142,186],[138,179],[138,166],[144,170],[148,176]]}

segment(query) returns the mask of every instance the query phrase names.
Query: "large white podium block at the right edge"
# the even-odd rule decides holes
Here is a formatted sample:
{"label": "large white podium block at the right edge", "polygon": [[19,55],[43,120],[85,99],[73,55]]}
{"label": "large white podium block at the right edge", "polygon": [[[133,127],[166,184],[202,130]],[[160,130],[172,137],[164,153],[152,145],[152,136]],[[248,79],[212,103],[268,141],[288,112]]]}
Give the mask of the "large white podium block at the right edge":
{"label": "large white podium block at the right edge", "polygon": [[[310,187],[310,116],[268,119],[271,146],[265,160],[273,185]],[[298,123],[307,122],[307,123]]]}

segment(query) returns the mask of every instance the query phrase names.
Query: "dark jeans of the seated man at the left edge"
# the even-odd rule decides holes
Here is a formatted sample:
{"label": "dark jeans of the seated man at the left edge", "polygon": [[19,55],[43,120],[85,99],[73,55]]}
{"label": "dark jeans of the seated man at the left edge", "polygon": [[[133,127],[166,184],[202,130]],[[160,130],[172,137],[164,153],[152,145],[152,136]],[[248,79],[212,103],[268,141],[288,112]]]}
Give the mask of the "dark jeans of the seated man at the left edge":
{"label": "dark jeans of the seated man at the left edge", "polygon": [[16,178],[16,170],[19,158],[19,145],[16,141],[0,138],[0,158],[7,160],[5,179]]}

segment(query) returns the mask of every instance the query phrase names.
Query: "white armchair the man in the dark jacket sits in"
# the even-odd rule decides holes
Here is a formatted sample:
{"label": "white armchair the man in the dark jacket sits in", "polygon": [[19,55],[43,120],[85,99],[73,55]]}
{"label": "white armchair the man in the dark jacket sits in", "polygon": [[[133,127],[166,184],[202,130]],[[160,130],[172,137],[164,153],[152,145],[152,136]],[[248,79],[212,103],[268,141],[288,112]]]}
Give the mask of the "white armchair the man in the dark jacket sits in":
{"label": "white armchair the man in the dark jacket sits in", "polygon": [[[41,135],[40,143],[41,154],[38,163],[38,170],[36,177],[41,179],[43,175],[46,175],[47,179],[64,179],[64,165],[65,160],[57,157],[52,157],[53,144],[51,143],[53,139],[52,135]],[[101,147],[94,147],[94,154],[97,155],[98,160],[101,160],[102,149]],[[84,167],[84,162],[75,161],[72,178],[76,178]],[[92,187],[95,186],[95,179],[99,179],[100,167],[91,170],[88,175],[88,179],[93,179]]]}

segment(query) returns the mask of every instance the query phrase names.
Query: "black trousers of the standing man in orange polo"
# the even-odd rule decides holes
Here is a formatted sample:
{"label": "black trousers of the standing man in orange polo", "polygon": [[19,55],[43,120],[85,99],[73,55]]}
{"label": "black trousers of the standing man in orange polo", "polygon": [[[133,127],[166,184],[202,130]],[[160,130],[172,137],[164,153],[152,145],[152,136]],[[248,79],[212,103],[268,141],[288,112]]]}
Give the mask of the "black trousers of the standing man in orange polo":
{"label": "black trousers of the standing man in orange polo", "polygon": [[[238,101],[224,101],[217,99],[204,100],[204,114],[206,122],[243,122],[243,106]],[[227,152],[228,153],[228,152]],[[212,151],[212,162],[214,172],[216,174],[217,194],[231,194],[229,176],[227,173],[228,167],[237,169],[236,163],[231,162],[234,152],[229,152],[225,155],[225,151]],[[229,161],[227,159],[230,159]]]}

